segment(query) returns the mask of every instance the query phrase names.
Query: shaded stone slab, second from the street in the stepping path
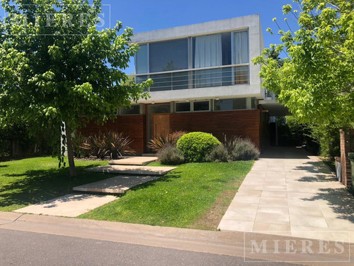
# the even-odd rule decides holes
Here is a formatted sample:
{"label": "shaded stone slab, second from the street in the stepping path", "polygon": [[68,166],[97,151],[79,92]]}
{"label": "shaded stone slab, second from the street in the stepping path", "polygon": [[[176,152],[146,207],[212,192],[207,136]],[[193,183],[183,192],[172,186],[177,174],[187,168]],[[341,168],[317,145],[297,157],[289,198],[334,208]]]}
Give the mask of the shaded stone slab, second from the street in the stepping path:
{"label": "shaded stone slab, second from the street in the stepping path", "polygon": [[139,184],[144,184],[157,178],[159,177],[120,175],[118,177],[112,177],[98,182],[93,182],[91,184],[84,184],[79,187],[74,187],[73,190],[76,192],[122,194],[132,187]]}

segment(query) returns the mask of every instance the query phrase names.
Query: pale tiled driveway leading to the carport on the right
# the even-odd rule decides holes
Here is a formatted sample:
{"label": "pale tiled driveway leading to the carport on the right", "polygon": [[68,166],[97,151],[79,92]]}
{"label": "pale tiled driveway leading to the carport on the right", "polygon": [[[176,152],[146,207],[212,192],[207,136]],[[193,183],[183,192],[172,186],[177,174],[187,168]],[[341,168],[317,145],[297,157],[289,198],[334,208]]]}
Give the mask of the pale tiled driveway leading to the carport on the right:
{"label": "pale tiled driveway leading to the carport on the right", "polygon": [[318,157],[302,148],[270,148],[219,229],[354,242],[354,198]]}

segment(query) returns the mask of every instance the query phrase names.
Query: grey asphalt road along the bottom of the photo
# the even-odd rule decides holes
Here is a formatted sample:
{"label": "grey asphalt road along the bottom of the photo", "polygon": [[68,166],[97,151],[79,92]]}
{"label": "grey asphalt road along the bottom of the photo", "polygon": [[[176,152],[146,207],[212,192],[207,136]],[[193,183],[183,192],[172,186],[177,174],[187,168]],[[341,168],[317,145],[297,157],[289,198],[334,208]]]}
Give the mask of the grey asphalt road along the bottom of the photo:
{"label": "grey asphalt road along the bottom of the photo", "polygon": [[0,229],[0,265],[292,265],[71,236]]}

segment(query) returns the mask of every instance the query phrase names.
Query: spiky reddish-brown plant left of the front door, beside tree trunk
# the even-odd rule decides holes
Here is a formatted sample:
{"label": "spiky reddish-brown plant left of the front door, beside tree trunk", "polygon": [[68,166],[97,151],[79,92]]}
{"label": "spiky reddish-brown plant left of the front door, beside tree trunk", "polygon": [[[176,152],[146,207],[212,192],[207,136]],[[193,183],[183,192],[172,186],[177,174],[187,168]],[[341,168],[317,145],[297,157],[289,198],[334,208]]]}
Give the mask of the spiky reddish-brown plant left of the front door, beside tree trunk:
{"label": "spiky reddish-brown plant left of the front door, beside tree trunk", "polygon": [[105,133],[98,132],[90,135],[81,145],[81,149],[89,155],[104,159],[110,156],[111,159],[118,159],[123,155],[133,155],[135,151],[129,145],[132,140],[124,137],[123,133],[107,131]]}

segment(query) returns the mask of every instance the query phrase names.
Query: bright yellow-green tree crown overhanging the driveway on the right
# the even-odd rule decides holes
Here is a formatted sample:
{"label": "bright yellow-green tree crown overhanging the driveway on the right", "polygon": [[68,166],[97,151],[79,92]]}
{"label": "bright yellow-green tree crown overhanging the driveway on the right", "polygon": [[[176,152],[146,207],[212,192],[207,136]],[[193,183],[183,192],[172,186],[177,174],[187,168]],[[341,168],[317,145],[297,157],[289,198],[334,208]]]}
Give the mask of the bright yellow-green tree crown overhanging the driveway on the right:
{"label": "bright yellow-green tree crown overhanging the driveway on the right", "polygon": [[[270,45],[253,59],[263,64],[263,87],[302,123],[326,128],[354,126],[354,2],[348,0],[295,0],[282,7],[298,31],[279,28],[281,45]],[[273,19],[276,22],[276,18]],[[287,21],[287,18],[285,18]],[[278,23],[277,23],[278,25]],[[267,29],[273,33],[270,28]],[[272,54],[285,52],[279,65]]]}

